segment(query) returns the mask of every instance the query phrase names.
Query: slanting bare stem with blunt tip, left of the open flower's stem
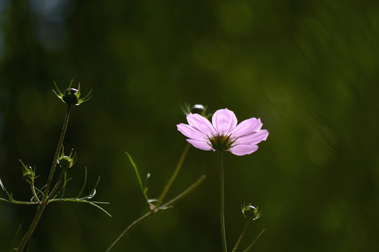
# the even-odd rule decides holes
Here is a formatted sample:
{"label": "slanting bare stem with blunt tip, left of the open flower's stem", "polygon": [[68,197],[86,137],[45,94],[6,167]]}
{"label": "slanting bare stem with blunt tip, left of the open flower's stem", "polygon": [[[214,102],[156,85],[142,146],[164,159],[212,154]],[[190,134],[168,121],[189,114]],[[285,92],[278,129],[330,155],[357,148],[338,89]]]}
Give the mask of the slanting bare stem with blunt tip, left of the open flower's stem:
{"label": "slanting bare stem with blunt tip, left of the open flower's stem", "polygon": [[199,186],[204,181],[205,178],[206,178],[205,175],[201,176],[200,179],[198,179],[195,183],[192,184],[192,186],[189,186],[189,188],[187,188],[185,191],[180,193],[180,195],[176,196],[175,198],[173,198],[172,200],[164,204],[162,207],[149,211],[143,216],[141,216],[140,218],[138,218],[137,220],[133,221],[133,223],[131,223],[131,225],[128,225],[128,228],[126,228],[124,232],[122,232],[121,235],[117,237],[117,239],[112,243],[112,245],[109,246],[106,252],[112,251],[120,243],[121,239],[124,239],[124,237],[126,237],[126,235],[128,235],[129,232],[131,232],[131,230],[133,230],[140,223],[146,221],[148,218],[151,218],[152,216],[159,213],[160,211],[164,211],[172,207],[172,205],[178,202],[179,200],[182,200],[183,197],[187,196],[189,193],[192,192],[192,190],[197,188],[197,186]]}

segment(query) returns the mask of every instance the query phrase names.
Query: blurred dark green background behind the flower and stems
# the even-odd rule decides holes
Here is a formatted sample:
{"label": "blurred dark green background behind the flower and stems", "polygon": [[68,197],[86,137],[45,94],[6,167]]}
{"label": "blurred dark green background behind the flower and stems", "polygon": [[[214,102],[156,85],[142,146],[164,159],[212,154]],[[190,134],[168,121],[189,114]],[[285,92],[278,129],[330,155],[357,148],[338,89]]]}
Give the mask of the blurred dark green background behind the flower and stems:
{"label": "blurred dark green background behind the flower and stems", "polygon": [[[88,169],[94,200],[46,208],[29,251],[105,251],[148,211],[125,151],[158,197],[185,147],[180,105],[228,108],[270,132],[252,155],[225,155],[227,244],[262,217],[253,251],[379,251],[378,1],[0,0],[0,176],[29,200],[21,159],[43,186],[74,79],[65,148],[75,196]],[[192,194],[133,230],[116,251],[221,251],[218,154],[191,148],[168,194]],[[5,194],[1,191],[1,197]],[[0,202],[0,251],[18,246],[35,207]],[[17,230],[21,225],[20,232]]]}

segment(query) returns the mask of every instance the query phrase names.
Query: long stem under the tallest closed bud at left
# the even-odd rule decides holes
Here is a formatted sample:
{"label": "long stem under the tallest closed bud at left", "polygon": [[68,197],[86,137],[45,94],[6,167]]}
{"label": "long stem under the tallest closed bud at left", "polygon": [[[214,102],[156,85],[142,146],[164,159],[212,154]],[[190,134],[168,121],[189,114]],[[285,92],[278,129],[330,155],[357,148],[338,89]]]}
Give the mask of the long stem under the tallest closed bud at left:
{"label": "long stem under the tallest closed bud at left", "polygon": [[48,190],[50,190],[51,182],[53,181],[53,176],[54,176],[54,172],[55,172],[55,167],[56,167],[57,162],[58,162],[60,148],[62,148],[63,139],[65,139],[65,133],[67,130],[67,125],[68,125],[68,120],[69,120],[69,111],[70,111],[70,106],[68,106],[68,108],[67,108],[67,113],[65,116],[65,122],[63,123],[62,132],[60,133],[60,139],[58,141],[57,150],[55,151],[55,156],[53,159],[53,165],[51,165],[50,175],[48,176],[48,181],[46,183],[44,196],[42,197],[41,204],[39,204],[39,206],[38,206],[36,216],[34,216],[34,220],[30,224],[29,230],[27,230],[25,236],[22,238],[20,246],[18,246],[18,251],[20,251],[20,252],[22,252],[24,250],[24,247],[27,244],[27,241],[29,241],[30,237],[32,236],[34,229],[36,228],[36,225],[38,224],[39,219],[41,218],[42,213],[44,212],[44,209],[45,209],[46,205],[48,204]]}

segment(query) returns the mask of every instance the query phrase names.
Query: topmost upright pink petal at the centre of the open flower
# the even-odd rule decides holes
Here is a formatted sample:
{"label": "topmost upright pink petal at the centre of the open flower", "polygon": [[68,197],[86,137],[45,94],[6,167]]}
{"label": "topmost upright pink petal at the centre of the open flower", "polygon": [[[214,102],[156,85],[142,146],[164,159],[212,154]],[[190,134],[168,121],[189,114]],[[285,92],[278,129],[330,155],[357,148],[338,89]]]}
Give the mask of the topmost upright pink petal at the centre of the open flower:
{"label": "topmost upright pink petal at the centre of the open flower", "polygon": [[219,109],[212,117],[212,124],[218,133],[228,135],[237,125],[237,118],[229,109]]}

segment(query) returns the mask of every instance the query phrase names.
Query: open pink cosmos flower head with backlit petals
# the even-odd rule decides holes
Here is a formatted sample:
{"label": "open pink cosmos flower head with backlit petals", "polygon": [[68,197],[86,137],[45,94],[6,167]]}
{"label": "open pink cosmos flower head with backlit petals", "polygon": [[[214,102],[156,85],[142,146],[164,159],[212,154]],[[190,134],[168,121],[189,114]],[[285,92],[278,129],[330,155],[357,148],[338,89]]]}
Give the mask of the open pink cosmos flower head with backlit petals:
{"label": "open pink cosmos flower head with backlit petals", "polygon": [[189,144],[204,151],[230,151],[234,155],[251,154],[258,149],[258,143],[265,141],[267,130],[260,130],[260,118],[250,118],[237,125],[233,111],[219,109],[212,117],[212,123],[197,113],[187,116],[189,125],[180,123],[178,130]]}

